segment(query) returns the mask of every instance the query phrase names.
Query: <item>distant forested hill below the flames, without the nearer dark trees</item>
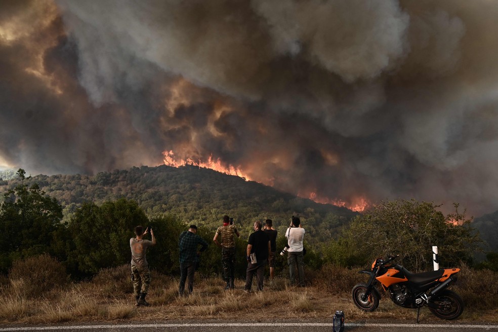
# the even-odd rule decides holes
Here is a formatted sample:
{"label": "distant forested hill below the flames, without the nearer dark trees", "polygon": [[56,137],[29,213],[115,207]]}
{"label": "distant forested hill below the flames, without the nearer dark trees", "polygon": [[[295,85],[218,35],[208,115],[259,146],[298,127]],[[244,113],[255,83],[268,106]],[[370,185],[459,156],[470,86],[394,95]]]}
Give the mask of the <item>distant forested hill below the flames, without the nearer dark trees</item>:
{"label": "distant forested hill below the flames, without the nearer dark trees", "polygon": [[[89,175],[36,175],[25,180],[58,200],[67,219],[81,203],[135,200],[149,217],[172,214],[185,223],[219,226],[224,214],[242,229],[254,219],[271,218],[279,231],[299,215],[310,241],[327,241],[357,215],[347,208],[315,203],[279,192],[243,178],[196,166],[157,166],[115,170]],[[0,194],[14,188],[18,179],[0,182]]]}

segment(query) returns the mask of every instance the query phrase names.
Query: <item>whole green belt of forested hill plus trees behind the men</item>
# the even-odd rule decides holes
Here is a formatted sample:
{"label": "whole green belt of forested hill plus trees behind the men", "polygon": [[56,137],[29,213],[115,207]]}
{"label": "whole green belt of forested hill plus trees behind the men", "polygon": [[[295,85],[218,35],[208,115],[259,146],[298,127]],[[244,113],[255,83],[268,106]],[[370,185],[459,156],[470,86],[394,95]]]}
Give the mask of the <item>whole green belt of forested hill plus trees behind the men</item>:
{"label": "whole green belt of forested hill plus trees behind the men", "polygon": [[[0,273],[7,273],[16,261],[48,253],[72,278],[91,277],[102,268],[129,260],[129,244],[123,239],[133,236],[136,225],[150,226],[161,239],[150,253],[155,268],[175,273],[178,236],[187,224],[197,224],[199,235],[212,243],[224,214],[234,217],[242,234],[236,240],[240,257],[245,256],[247,236],[255,219],[274,220],[279,231],[277,248],[283,248],[289,219],[299,215],[306,229],[305,264],[313,270],[323,264],[364,265],[374,256],[401,250],[408,264],[410,257],[422,255],[423,259],[419,257],[411,266],[423,271],[431,263],[431,256],[426,254],[427,248],[417,248],[416,244],[444,247],[448,266],[461,261],[470,264],[479,246],[470,220],[458,213],[445,216],[433,203],[396,200],[358,215],[346,208],[317,204],[257,182],[193,166],[134,167],[95,176],[29,177],[19,169],[15,179],[3,180],[0,194],[0,226],[2,232],[12,233],[0,241],[4,249]],[[463,224],[447,223],[449,217]],[[396,220],[402,222],[393,223]],[[372,239],[365,250],[365,238],[369,237]],[[201,271],[205,275],[220,271],[218,247],[210,246],[202,257]],[[483,267],[495,269],[494,256],[488,261]],[[284,271],[285,264],[285,258],[278,255],[279,271]],[[237,271],[243,275],[244,260],[238,261]]]}

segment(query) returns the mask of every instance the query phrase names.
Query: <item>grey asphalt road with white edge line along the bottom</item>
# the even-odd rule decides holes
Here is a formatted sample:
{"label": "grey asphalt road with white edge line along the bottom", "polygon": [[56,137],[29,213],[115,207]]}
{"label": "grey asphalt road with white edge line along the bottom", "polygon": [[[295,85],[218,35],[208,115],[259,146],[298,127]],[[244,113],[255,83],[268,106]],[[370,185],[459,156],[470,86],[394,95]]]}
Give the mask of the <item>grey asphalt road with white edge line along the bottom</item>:
{"label": "grey asphalt road with white edge line along the bottom", "polygon": [[[37,326],[1,326],[0,332],[10,331],[64,331],[64,332],[331,332],[330,322],[149,322],[147,324],[103,323],[71,325],[37,325]],[[498,324],[464,324],[442,322],[438,324],[409,324],[403,322],[347,322],[344,331],[389,331],[389,332],[449,332],[465,330],[471,332],[498,331]]]}

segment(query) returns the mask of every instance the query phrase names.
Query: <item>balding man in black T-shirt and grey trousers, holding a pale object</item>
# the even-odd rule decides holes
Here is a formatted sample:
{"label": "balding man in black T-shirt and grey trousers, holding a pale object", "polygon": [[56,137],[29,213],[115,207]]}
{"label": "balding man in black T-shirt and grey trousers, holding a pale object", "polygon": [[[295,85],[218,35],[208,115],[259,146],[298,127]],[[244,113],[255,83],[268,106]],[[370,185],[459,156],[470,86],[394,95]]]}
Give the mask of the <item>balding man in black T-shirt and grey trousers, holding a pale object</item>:
{"label": "balding man in black T-shirt and grey trousers, holding a pale object", "polygon": [[[247,241],[247,270],[245,273],[244,292],[250,292],[253,285],[253,276],[256,273],[256,284],[259,290],[263,290],[263,279],[265,274],[266,260],[270,254],[270,239],[261,230],[261,222],[257,221],[253,225],[255,230]],[[255,253],[256,263],[251,262],[251,254]]]}

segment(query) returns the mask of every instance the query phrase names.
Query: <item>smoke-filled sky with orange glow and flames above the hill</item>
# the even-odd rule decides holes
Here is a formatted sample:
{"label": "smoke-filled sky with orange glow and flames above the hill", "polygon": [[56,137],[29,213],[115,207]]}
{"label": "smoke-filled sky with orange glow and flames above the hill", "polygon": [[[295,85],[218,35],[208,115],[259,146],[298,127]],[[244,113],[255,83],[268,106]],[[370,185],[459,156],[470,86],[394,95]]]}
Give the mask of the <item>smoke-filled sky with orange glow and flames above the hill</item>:
{"label": "smoke-filled sky with orange glow and flames above the hill", "polygon": [[0,165],[210,156],[347,206],[498,209],[498,1],[2,0]]}

